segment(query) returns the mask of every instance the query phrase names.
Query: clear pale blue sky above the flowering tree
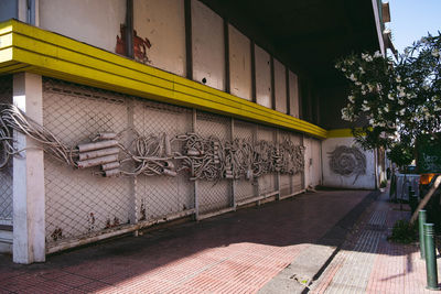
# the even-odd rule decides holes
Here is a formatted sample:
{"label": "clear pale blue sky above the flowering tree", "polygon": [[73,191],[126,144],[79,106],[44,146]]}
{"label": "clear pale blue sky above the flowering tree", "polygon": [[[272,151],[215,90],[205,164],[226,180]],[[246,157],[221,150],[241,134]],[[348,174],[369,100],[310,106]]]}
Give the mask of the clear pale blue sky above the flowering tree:
{"label": "clear pale blue sky above the flowering tree", "polygon": [[[384,0],[384,2],[386,2]],[[392,42],[398,52],[428,32],[441,31],[441,0],[389,0]]]}

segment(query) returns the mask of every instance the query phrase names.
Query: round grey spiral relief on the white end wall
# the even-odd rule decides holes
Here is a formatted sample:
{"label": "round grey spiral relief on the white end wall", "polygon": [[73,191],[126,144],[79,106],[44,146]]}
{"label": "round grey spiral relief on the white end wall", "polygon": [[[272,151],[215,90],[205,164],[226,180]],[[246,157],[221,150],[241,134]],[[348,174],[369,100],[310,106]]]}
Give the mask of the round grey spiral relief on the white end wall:
{"label": "round grey spiral relief on the white end wall", "polygon": [[358,148],[341,145],[329,154],[331,171],[346,177],[355,175],[353,184],[366,174],[366,155]]}

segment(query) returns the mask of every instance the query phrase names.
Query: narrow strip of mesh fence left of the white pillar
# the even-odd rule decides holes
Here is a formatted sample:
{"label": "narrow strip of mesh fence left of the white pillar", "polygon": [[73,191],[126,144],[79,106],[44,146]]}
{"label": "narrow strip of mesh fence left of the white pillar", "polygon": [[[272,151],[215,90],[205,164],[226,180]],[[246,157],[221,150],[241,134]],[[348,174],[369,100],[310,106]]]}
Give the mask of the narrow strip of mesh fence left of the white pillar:
{"label": "narrow strip of mesh fence left of the white pillar", "polygon": [[[12,104],[12,76],[0,77],[0,104]],[[2,149],[0,141],[0,162],[4,156]],[[12,225],[12,161],[0,170],[0,225]]]}

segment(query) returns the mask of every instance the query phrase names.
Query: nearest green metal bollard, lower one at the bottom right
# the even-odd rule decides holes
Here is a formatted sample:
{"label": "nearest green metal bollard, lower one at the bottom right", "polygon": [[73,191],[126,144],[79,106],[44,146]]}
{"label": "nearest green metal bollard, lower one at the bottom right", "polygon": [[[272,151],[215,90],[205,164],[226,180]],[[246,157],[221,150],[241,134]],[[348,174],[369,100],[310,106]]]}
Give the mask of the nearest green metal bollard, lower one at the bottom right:
{"label": "nearest green metal bollard, lower one at the bottom right", "polygon": [[433,224],[424,224],[426,275],[429,290],[439,290]]}

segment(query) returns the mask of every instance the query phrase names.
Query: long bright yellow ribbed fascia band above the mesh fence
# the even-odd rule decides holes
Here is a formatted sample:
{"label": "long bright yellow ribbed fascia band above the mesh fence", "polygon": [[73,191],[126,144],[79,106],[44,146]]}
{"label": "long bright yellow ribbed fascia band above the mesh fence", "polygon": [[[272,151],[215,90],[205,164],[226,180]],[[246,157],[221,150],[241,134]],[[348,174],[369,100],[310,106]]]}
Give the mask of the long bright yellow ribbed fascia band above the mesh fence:
{"label": "long bright yellow ribbed fascia band above the mesh fence", "polygon": [[17,20],[0,23],[0,74],[28,70],[316,138],[327,135],[310,122]]}

